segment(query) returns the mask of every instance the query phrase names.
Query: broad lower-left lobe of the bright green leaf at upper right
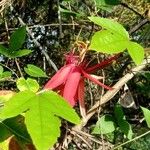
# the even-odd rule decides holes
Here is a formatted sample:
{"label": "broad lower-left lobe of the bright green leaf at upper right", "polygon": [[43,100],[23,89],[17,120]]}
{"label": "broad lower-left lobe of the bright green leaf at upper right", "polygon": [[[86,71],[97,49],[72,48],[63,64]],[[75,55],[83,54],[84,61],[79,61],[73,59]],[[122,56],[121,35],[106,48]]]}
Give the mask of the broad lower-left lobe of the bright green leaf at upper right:
{"label": "broad lower-left lobe of the bright green leaf at upper right", "polygon": [[108,30],[102,30],[93,35],[89,49],[114,54],[124,51],[128,43],[129,41],[122,36],[113,34]]}

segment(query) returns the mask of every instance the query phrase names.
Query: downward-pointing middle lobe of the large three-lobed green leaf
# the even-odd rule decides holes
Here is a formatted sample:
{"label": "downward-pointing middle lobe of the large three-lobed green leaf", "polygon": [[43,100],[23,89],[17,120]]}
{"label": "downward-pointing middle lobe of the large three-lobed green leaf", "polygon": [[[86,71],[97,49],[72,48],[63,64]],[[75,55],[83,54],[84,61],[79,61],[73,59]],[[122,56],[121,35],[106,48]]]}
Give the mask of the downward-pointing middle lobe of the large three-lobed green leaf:
{"label": "downward-pointing middle lobe of the large three-lobed green leaf", "polygon": [[46,103],[37,99],[36,109],[31,109],[25,115],[25,124],[37,150],[48,150],[57,142],[60,136],[61,121],[58,117],[49,114]]}

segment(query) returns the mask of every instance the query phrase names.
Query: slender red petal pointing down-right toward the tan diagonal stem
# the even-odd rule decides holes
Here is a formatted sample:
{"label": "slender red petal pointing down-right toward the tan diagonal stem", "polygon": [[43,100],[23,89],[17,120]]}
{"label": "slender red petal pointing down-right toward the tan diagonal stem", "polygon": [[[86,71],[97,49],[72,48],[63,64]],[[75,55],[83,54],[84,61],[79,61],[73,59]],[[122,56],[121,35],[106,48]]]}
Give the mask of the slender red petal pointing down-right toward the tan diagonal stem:
{"label": "slender red petal pointing down-right toward the tan diagonal stem", "polygon": [[103,88],[107,89],[107,90],[112,90],[113,88],[101,83],[100,81],[98,81],[97,79],[93,78],[92,76],[90,76],[89,74],[87,74],[84,70],[82,70],[82,73],[84,75],[84,77],[90,79],[91,81],[93,81],[94,83],[102,86]]}

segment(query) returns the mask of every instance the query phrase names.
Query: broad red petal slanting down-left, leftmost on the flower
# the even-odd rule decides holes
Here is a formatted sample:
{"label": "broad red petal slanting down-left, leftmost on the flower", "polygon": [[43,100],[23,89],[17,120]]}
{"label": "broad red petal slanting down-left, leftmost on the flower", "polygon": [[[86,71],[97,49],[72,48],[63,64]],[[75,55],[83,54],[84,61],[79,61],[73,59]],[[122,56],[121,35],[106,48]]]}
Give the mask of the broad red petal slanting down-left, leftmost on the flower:
{"label": "broad red petal slanting down-left, leftmost on the flower", "polygon": [[55,89],[63,84],[66,81],[72,67],[74,67],[74,65],[69,64],[58,70],[58,72],[46,83],[44,89]]}

